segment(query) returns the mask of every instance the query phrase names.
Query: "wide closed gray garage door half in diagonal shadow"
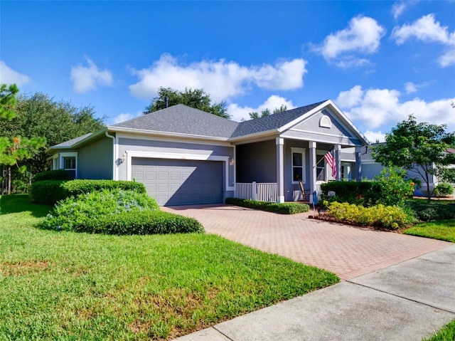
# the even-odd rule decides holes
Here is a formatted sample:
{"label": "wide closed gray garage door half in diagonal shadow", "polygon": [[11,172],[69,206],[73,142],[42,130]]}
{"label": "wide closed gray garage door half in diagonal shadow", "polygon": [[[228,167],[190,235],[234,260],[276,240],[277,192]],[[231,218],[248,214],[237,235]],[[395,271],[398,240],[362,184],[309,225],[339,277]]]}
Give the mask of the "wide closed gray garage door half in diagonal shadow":
{"label": "wide closed gray garage door half in diagonal shadow", "polygon": [[223,162],[181,159],[132,159],[132,179],[161,206],[223,202]]}

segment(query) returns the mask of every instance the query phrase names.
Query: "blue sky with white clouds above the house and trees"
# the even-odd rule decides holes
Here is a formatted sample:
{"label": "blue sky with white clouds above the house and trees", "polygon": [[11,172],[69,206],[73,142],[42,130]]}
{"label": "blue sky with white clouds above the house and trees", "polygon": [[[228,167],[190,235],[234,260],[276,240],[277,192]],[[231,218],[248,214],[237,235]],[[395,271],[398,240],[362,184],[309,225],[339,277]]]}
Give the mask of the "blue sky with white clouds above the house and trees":
{"label": "blue sky with white clouds above the house and trees", "polygon": [[371,142],[397,122],[455,130],[455,1],[1,1],[0,82],[114,124],[160,87],[233,120],[332,99]]}

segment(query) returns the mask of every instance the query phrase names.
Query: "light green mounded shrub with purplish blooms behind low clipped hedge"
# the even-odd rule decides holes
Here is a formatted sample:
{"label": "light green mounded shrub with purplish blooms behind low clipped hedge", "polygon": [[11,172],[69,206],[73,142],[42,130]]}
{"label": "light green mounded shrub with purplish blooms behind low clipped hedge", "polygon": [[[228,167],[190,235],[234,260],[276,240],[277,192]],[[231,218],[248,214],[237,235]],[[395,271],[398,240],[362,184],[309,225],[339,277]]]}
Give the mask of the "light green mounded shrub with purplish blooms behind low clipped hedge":
{"label": "light green mounded shrub with purplish blooms behind low clipped hedge", "polygon": [[79,231],[90,226],[90,220],[123,212],[137,213],[159,210],[158,204],[147,194],[122,189],[104,189],[80,196],[70,196],[59,201],[45,217],[41,227],[45,229]]}

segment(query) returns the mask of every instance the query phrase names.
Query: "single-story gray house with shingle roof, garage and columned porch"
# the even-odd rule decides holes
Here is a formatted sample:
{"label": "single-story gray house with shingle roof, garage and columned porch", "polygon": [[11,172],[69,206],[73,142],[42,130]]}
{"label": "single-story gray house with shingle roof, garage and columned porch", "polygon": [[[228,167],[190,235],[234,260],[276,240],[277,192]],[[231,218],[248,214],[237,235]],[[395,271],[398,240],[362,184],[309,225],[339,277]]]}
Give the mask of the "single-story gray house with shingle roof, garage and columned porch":
{"label": "single-story gray house with shingle roof, garage and columned porch", "polygon": [[[175,105],[49,150],[53,169],[77,179],[142,182],[160,205],[171,206],[230,196],[298,200],[298,179],[311,193],[333,179],[323,158],[331,149],[341,169],[337,179],[360,179],[360,147],[367,144],[326,100],[245,122]],[[343,159],[343,147],[357,147],[357,159]]]}

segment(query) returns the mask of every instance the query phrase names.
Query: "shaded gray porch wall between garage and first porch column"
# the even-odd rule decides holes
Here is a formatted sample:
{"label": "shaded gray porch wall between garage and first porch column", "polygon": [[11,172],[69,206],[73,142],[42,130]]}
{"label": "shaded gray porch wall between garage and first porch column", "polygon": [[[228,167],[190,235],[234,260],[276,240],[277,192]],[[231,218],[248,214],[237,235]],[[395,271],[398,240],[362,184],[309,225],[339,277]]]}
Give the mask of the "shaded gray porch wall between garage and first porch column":
{"label": "shaded gray porch wall between garage and first porch column", "polygon": [[275,140],[237,145],[237,182],[277,182]]}

